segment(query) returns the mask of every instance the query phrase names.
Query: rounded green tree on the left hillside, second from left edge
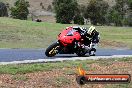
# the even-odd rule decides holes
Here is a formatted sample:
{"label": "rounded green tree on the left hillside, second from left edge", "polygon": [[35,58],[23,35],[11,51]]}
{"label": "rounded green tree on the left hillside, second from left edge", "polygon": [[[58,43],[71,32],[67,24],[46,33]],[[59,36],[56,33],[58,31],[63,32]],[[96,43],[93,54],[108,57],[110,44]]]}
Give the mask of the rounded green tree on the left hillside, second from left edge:
{"label": "rounded green tree on the left hillside, second from left edge", "polygon": [[17,0],[14,5],[15,7],[11,8],[11,16],[16,19],[27,20],[29,14],[29,2],[25,0]]}

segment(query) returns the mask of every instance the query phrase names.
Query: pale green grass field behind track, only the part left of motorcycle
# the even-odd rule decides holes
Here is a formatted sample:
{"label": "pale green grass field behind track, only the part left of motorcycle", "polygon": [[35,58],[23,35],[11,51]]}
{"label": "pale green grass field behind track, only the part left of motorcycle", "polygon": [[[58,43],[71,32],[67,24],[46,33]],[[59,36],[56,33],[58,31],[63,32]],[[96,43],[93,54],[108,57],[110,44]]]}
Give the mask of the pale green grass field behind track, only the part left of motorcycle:
{"label": "pale green grass field behind track, only the part left of motorcycle", "polygon": [[0,48],[44,48],[66,26],[0,18]]}

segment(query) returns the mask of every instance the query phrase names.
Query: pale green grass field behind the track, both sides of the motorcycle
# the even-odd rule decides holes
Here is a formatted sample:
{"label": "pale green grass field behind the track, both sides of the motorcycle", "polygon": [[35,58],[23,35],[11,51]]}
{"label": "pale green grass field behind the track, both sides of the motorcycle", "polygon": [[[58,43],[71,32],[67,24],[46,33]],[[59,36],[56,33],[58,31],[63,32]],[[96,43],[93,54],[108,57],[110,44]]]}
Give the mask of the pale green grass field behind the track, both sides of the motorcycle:
{"label": "pale green grass field behind the track, both sides of the motorcycle", "polygon": [[[37,23],[1,17],[0,48],[46,48],[67,26],[73,24]],[[96,29],[101,34],[101,41],[116,41],[132,48],[132,27],[97,26]]]}

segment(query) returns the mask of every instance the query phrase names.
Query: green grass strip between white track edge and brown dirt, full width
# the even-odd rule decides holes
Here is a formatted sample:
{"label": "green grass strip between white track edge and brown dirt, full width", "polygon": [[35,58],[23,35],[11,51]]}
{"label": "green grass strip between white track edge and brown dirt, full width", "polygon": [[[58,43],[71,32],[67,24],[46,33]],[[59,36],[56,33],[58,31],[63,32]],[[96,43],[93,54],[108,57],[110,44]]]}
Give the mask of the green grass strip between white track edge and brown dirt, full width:
{"label": "green grass strip between white track edge and brown dirt, full width", "polygon": [[[77,60],[77,61],[64,61],[56,63],[34,63],[34,64],[18,64],[18,65],[0,65],[0,74],[25,74],[36,71],[51,71],[53,69],[62,68],[77,68],[82,65],[85,70],[91,70],[88,65],[92,63],[99,63],[102,66],[110,65],[114,61],[131,62],[131,58],[112,58],[112,59],[99,59],[99,60]],[[69,70],[70,71],[70,70]],[[73,71],[66,71],[65,74],[75,73]]]}

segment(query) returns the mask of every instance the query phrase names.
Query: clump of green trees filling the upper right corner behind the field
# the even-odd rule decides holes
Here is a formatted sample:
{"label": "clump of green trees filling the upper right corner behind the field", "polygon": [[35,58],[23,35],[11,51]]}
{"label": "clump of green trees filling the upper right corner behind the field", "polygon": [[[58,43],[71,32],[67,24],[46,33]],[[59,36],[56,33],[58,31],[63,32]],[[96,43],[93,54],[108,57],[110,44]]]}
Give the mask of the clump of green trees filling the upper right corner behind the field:
{"label": "clump of green trees filling the upper right corner behind the field", "polygon": [[111,7],[103,0],[90,0],[87,7],[80,7],[80,13],[93,25],[131,26],[132,0],[115,1]]}

